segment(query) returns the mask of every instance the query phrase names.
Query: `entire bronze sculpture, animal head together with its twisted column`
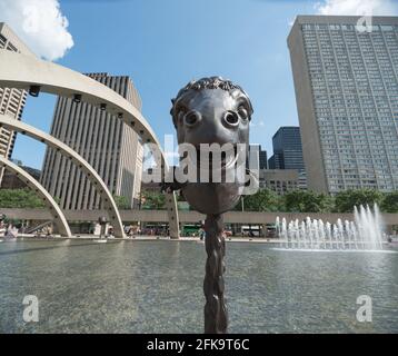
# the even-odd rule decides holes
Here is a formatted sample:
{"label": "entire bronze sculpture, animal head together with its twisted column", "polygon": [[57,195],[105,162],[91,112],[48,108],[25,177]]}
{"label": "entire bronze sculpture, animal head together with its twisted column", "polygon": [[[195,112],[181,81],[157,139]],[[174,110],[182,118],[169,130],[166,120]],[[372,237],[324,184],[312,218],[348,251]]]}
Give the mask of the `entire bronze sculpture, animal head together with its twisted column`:
{"label": "entire bronze sculpture, animal head together with its twisted column", "polygon": [[[171,101],[171,116],[177,129],[179,148],[187,145],[190,150],[183,157],[180,152],[180,167],[173,170],[172,182],[163,188],[166,190],[181,189],[190,206],[207,215],[205,221],[205,244],[208,256],[203,283],[205,332],[227,333],[228,313],[223,299],[226,247],[222,212],[231,209],[239,201],[242,187],[246,186],[249,123],[253,110],[243,89],[220,77],[191,81]],[[218,149],[217,152],[211,149],[215,146]],[[206,151],[209,155],[203,159]],[[213,159],[213,154],[219,154],[218,161]],[[187,167],[182,165],[186,159],[189,164]],[[186,168],[189,170],[189,166],[196,166],[196,172],[200,174],[199,179],[196,175],[196,179],[188,179],[182,184],[178,179],[176,181],[176,171],[178,176]],[[236,169],[241,167],[245,168],[243,179],[233,175]],[[205,175],[202,179],[203,171],[210,174],[211,178]],[[215,179],[215,172],[219,174],[220,180]]]}

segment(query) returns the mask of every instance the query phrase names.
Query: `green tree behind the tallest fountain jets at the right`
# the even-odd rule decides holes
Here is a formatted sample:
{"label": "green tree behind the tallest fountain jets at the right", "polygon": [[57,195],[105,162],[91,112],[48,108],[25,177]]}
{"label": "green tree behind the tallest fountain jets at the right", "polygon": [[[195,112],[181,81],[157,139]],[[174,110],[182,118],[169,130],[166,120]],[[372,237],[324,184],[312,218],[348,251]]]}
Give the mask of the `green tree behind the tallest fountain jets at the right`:
{"label": "green tree behind the tallest fountain jets at the right", "polygon": [[340,191],[335,197],[335,210],[337,212],[352,212],[355,206],[380,205],[384,195],[374,189],[356,189]]}

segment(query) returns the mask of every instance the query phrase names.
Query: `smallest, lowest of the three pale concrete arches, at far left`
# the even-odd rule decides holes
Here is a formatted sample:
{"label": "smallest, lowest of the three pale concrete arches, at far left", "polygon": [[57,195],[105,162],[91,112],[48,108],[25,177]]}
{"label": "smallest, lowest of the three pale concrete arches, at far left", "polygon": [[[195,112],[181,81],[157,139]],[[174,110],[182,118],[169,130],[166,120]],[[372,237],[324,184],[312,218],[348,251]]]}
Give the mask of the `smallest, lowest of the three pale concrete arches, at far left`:
{"label": "smallest, lowest of the three pale concrete arches, at far left", "polygon": [[0,156],[0,167],[4,167],[8,170],[14,172],[29,188],[34,190],[37,195],[43,200],[43,202],[49,208],[51,216],[53,218],[54,225],[58,227],[58,230],[61,236],[71,237],[72,234],[70,231],[68,221],[57,205],[56,200],[47,192],[44,187],[40,185],[32,176],[30,176],[26,170],[21,167],[18,167],[7,158]]}

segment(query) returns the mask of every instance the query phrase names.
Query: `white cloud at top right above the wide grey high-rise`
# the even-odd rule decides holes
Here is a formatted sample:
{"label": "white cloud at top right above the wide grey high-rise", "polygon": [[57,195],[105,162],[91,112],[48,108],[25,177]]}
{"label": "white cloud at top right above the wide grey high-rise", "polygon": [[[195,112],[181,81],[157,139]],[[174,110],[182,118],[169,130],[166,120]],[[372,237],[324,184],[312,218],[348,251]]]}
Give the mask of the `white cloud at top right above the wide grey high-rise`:
{"label": "white cloud at top right above the wide grey high-rise", "polygon": [[398,12],[396,0],[325,0],[315,8],[319,14],[394,16]]}

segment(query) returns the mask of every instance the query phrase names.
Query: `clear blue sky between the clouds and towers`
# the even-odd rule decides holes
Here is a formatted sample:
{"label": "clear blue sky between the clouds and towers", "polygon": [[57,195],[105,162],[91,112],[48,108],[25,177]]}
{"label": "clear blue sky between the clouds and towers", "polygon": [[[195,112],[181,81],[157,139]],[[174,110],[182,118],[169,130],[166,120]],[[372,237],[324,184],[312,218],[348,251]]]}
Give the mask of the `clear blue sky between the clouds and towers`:
{"label": "clear blue sky between the clouds and towers", "polygon": [[[287,36],[296,14],[315,13],[315,1],[61,0],[60,6],[74,46],[58,62],[81,72],[130,76],[160,141],[175,134],[170,99],[191,79],[213,75],[249,93],[250,141],[269,154],[276,130],[298,125]],[[49,95],[29,98],[23,121],[49,131],[53,106]],[[44,149],[18,136],[12,156],[41,168]]]}

